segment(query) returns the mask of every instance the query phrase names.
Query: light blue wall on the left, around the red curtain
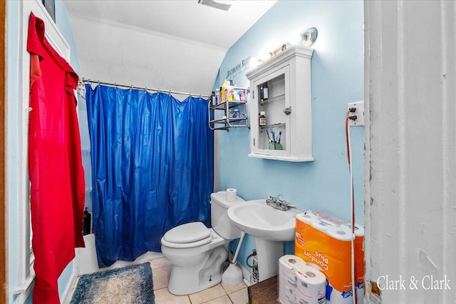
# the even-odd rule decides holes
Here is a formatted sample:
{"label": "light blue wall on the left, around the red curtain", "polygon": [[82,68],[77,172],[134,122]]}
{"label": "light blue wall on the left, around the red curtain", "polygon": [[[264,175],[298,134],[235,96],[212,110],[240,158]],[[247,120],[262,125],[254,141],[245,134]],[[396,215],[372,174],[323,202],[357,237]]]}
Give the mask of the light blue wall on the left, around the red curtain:
{"label": "light blue wall on the left, around the red curtain", "polygon": [[[9,282],[9,303],[17,303],[17,298],[14,296],[14,288],[18,282],[18,255],[19,250],[19,208],[18,208],[18,183],[19,172],[19,138],[22,134],[19,133],[21,127],[19,126],[19,107],[15,101],[19,100],[19,79],[21,78],[20,61],[22,51],[20,49],[19,39],[21,31],[21,13],[20,1],[7,1],[7,39],[8,39],[8,101],[9,107],[7,109],[7,124],[8,124],[8,138],[7,140],[7,153],[8,153],[8,282]],[[78,59],[78,52],[73,39],[73,30],[69,21],[68,13],[62,0],[56,0],[56,24],[58,29],[65,36],[66,41],[71,46],[71,66],[81,75],[81,65]],[[86,117],[86,116],[82,116]],[[59,294],[63,292],[71,279],[73,270],[73,263],[68,264],[61,277],[58,279]],[[63,300],[63,299],[61,299]],[[28,298],[27,303],[31,303],[31,296]]]}

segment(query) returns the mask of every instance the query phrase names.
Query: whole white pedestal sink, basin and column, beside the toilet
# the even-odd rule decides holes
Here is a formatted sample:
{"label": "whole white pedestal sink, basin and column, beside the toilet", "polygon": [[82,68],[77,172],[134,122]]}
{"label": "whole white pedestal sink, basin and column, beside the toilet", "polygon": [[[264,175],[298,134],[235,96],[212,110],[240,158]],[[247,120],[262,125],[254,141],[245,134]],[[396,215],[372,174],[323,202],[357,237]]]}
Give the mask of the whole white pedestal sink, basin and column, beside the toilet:
{"label": "whole white pedestal sink, basin and column, beside the toilet", "polygon": [[277,275],[279,258],[284,255],[284,241],[294,240],[294,216],[299,212],[295,208],[280,211],[266,205],[265,199],[229,207],[229,219],[237,228],[254,237],[260,282]]}

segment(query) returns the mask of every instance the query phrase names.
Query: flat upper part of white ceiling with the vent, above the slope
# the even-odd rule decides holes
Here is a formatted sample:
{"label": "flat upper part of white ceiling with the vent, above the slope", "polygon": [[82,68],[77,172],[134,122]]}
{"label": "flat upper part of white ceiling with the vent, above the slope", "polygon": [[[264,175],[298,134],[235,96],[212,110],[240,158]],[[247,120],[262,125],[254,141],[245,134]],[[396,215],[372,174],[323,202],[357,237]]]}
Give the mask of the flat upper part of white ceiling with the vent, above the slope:
{"label": "flat upper part of white ceiling with the vent, above the slope", "polygon": [[70,16],[113,21],[228,49],[276,0],[222,1],[229,11],[197,0],[65,0]]}

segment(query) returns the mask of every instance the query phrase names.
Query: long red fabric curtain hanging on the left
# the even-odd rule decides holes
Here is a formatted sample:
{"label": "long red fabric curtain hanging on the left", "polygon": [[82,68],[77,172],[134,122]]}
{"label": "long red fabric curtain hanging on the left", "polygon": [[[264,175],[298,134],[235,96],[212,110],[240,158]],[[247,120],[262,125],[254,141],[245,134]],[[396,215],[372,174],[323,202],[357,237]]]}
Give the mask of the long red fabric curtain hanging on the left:
{"label": "long red fabric curtain hanging on the left", "polygon": [[28,171],[33,229],[33,303],[60,303],[57,280],[84,247],[84,173],[74,89],[78,75],[44,36],[43,20],[28,24],[30,116]]}

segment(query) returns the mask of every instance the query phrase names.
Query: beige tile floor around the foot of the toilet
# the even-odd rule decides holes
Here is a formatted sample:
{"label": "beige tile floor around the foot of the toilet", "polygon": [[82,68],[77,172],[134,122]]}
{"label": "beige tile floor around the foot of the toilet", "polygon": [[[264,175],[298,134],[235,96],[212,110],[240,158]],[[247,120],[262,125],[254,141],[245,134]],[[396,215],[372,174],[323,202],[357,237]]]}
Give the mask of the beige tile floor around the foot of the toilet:
{"label": "beige tile floor around the foot of the toilet", "polygon": [[247,285],[218,284],[191,295],[172,295],[168,291],[171,265],[166,258],[150,260],[156,304],[246,304]]}

